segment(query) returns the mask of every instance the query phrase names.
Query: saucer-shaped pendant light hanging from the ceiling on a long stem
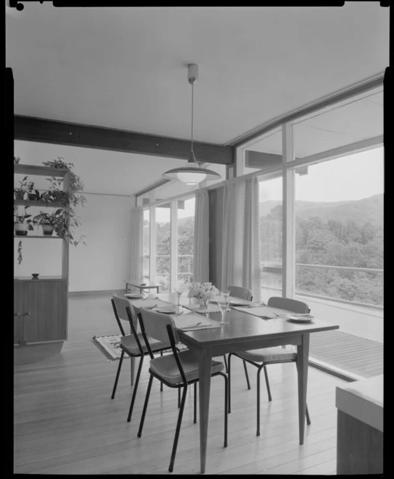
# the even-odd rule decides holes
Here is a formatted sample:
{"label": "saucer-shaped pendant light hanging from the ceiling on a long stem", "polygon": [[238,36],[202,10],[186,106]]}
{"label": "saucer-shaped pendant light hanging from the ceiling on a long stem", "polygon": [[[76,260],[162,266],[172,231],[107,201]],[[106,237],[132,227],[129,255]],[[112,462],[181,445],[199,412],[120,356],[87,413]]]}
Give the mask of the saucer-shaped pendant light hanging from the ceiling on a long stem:
{"label": "saucer-shaped pendant light hanging from the ceiling on a long stem", "polygon": [[194,85],[199,76],[199,65],[191,63],[187,66],[187,80],[191,85],[191,149],[189,154],[189,159],[186,166],[181,168],[173,168],[172,170],[166,171],[163,176],[170,179],[179,179],[187,186],[196,186],[201,181],[218,179],[221,177],[220,174],[215,171],[202,168],[195,159],[193,151],[193,94],[194,94]]}

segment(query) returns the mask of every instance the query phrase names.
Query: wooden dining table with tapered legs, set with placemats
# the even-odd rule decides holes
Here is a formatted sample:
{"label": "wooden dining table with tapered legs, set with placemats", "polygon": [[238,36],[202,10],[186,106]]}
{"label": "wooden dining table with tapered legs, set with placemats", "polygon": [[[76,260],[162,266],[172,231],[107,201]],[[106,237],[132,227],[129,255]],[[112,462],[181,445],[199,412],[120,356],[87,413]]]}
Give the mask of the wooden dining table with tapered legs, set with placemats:
{"label": "wooden dining table with tapered legs, set with placemats", "polygon": [[[159,293],[158,299],[177,304],[175,293]],[[180,304],[187,306],[189,299],[181,296]],[[224,313],[208,312],[205,316],[220,321],[220,328],[208,328],[183,331],[178,329],[178,337],[182,344],[199,357],[199,412],[200,412],[200,466],[205,472],[207,458],[209,396],[211,386],[212,358],[226,353],[247,351],[274,346],[293,345],[297,348],[298,376],[298,421],[299,444],[304,443],[305,409],[307,405],[309,341],[312,333],[339,329],[339,325],[325,323],[318,318],[310,322],[299,323],[279,315],[275,318],[263,319],[237,309]],[[286,312],[286,311],[284,311]],[[291,311],[287,311],[291,314]]]}

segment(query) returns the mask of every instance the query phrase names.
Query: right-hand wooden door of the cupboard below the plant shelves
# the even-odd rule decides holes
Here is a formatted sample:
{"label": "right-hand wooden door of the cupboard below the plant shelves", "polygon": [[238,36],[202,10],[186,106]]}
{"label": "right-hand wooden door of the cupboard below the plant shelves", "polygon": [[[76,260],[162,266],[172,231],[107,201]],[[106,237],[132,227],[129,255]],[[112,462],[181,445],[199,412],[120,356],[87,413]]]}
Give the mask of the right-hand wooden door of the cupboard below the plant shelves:
{"label": "right-hand wooden door of the cupboard below the plant shelves", "polygon": [[64,281],[32,281],[24,288],[24,340],[65,339],[67,285]]}

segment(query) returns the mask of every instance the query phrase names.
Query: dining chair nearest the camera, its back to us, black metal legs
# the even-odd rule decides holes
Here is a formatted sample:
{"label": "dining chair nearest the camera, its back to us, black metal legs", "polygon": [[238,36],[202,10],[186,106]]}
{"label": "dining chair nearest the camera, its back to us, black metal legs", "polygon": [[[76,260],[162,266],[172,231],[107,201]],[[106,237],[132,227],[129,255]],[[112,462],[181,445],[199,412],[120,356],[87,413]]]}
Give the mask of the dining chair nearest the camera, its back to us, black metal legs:
{"label": "dining chair nearest the camera, its back to us, black metal legs", "polygon": [[[142,410],[140,427],[138,429],[137,437],[141,437],[142,428],[144,425],[146,409],[148,406],[150,389],[153,378],[159,379],[164,382],[168,387],[178,388],[180,391],[183,388],[182,400],[178,413],[178,421],[175,430],[174,442],[172,445],[171,459],[168,471],[173,471],[173,465],[175,461],[175,454],[177,452],[177,445],[179,439],[179,432],[181,429],[183,410],[185,407],[186,393],[189,384],[194,385],[194,420],[196,423],[196,388],[195,385],[199,381],[199,358],[190,351],[177,350],[176,345],[179,343],[177,329],[173,318],[166,315],[157,313],[155,311],[148,311],[140,308],[138,310],[138,319],[140,322],[140,328],[145,340],[145,345],[150,355],[149,366],[149,382],[146,391],[146,397],[144,407]],[[153,351],[148,338],[154,337],[158,341],[164,343],[168,341],[171,345],[172,354],[166,354],[162,357],[154,357]],[[225,380],[225,421],[224,421],[224,447],[227,447],[227,414],[228,414],[228,379],[227,375],[222,373],[224,369],[223,362],[212,360],[211,376],[223,376]]]}

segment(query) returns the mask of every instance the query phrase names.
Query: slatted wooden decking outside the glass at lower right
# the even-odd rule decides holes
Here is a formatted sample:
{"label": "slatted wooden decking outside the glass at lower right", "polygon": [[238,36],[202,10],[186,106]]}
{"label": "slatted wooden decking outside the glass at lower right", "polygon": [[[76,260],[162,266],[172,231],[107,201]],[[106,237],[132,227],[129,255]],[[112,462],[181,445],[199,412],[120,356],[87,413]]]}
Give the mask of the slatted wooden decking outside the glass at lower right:
{"label": "slatted wooden decking outside the glass at lower right", "polygon": [[310,356],[365,378],[383,374],[383,344],[341,331],[311,334]]}

